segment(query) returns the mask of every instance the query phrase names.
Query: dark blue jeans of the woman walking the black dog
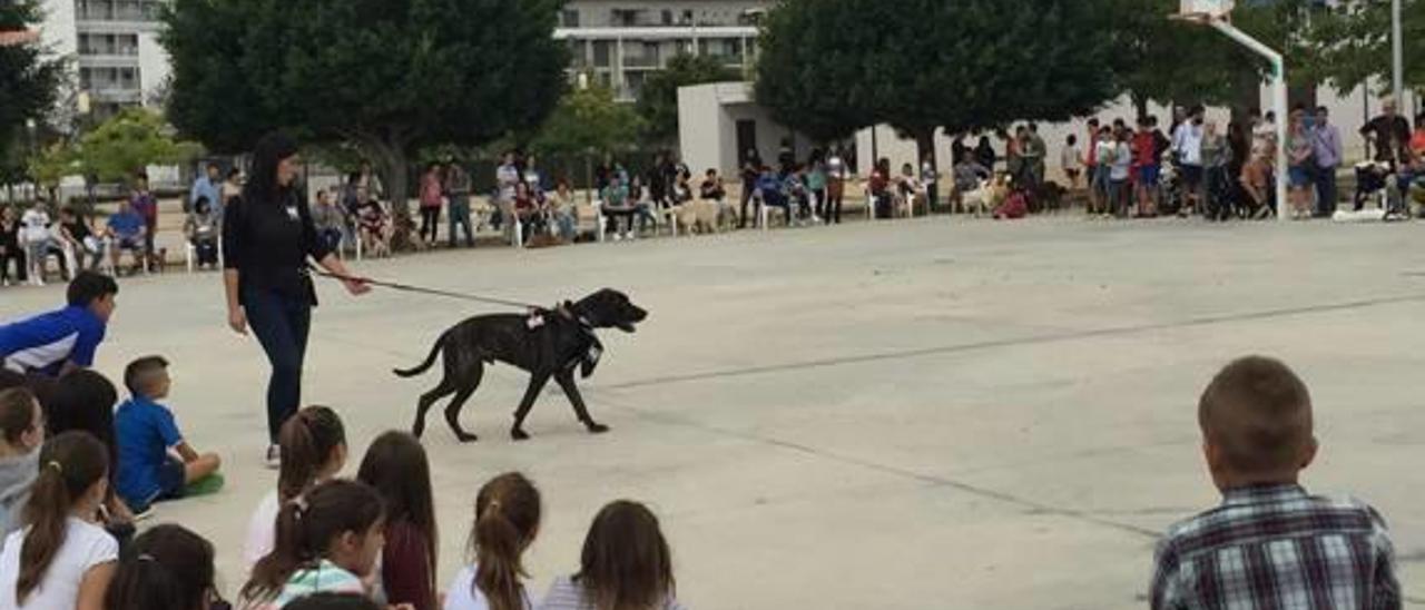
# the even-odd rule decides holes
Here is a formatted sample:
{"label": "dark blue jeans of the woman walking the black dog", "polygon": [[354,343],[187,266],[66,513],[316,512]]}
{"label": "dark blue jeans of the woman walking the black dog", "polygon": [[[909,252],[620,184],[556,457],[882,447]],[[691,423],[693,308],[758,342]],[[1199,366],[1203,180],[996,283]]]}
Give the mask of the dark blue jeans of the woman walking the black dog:
{"label": "dark blue jeans of the woman walking the black dog", "polygon": [[282,423],[296,413],[302,400],[302,362],[306,358],[306,334],[312,326],[312,305],[306,299],[252,288],[244,291],[242,306],[252,334],[272,363],[268,438],[276,445]]}

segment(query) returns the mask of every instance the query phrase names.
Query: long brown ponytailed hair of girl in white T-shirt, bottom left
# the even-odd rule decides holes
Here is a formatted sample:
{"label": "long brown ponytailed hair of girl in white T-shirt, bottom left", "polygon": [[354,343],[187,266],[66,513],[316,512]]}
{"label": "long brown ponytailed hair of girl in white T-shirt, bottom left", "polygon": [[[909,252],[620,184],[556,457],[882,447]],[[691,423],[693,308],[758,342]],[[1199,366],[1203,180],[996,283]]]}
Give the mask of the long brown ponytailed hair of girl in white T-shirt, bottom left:
{"label": "long brown ponytailed hair of girl in white T-shirt, bottom left", "polygon": [[20,606],[44,580],[44,573],[64,546],[70,510],[107,475],[108,452],[83,432],[66,432],[40,449],[40,476],[34,479],[30,500],[24,505],[23,523],[28,530],[20,546],[20,576],[14,584]]}

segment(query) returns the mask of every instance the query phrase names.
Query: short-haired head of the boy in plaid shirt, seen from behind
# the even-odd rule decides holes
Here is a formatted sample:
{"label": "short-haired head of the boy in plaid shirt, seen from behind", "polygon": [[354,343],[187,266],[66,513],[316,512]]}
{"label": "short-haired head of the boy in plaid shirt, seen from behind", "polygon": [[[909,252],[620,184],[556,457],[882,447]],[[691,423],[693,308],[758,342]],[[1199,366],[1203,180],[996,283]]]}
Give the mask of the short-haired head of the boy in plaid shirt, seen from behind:
{"label": "short-haired head of the boy in plaid shirt, seen from behind", "polygon": [[1295,482],[1317,453],[1307,385],[1273,358],[1227,365],[1203,391],[1197,420],[1220,489]]}

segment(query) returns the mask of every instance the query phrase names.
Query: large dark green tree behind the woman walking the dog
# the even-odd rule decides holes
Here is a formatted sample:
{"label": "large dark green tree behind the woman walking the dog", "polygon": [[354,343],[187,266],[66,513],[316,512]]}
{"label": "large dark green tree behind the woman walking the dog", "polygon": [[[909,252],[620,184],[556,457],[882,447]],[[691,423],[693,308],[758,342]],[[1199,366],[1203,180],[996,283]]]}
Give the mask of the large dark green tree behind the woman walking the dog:
{"label": "large dark green tree behind the woman walking the dog", "polygon": [[532,130],[564,88],[563,0],[175,0],[170,117],[219,151],[284,128],[366,154],[399,215],[409,160]]}

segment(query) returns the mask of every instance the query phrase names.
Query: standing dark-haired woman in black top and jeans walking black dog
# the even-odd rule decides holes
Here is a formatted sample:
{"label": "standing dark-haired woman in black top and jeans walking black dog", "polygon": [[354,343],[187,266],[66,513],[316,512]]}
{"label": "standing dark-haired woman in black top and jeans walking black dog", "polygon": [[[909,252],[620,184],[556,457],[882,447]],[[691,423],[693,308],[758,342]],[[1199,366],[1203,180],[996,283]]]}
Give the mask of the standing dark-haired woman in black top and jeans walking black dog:
{"label": "standing dark-haired woman in black top and jeans walking black dog", "polygon": [[[247,335],[248,325],[262,343],[272,376],[268,381],[266,465],[281,465],[278,430],[296,412],[302,396],[302,362],[306,335],[316,305],[316,289],[306,261],[349,278],[346,267],[316,235],[306,200],[294,188],[296,143],[272,133],[258,141],[252,175],[242,197],[225,210],[222,222],[224,285],[228,325]],[[346,291],[370,291],[363,282],[345,281]]]}

